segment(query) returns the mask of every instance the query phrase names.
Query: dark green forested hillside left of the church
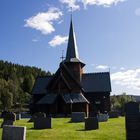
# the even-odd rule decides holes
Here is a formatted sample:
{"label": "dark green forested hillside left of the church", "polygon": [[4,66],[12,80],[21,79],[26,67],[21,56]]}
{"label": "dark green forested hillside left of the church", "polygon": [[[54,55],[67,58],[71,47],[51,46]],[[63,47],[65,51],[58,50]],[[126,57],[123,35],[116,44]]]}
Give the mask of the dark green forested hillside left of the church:
{"label": "dark green forested hillside left of the church", "polygon": [[40,68],[0,60],[0,110],[27,109],[36,77],[50,74]]}

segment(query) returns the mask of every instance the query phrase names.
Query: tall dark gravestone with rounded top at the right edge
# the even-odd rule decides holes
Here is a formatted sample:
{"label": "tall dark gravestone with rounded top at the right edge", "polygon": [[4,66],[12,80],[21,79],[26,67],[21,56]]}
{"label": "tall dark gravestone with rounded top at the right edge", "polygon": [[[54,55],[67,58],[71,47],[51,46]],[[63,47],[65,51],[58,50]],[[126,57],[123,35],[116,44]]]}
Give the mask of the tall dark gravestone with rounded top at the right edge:
{"label": "tall dark gravestone with rounded top at the right edge", "polygon": [[127,140],[140,140],[139,104],[129,102],[125,105],[125,128]]}

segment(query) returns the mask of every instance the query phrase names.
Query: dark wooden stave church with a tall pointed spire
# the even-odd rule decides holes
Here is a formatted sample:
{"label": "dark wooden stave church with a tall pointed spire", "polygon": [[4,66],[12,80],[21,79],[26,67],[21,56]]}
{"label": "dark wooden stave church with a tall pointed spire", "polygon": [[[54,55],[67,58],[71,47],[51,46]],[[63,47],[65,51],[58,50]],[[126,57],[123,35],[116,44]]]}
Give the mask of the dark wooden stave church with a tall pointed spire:
{"label": "dark wooden stave church with a tall pointed spire", "polygon": [[69,115],[85,112],[91,116],[110,111],[110,73],[84,73],[84,66],[71,19],[66,57],[54,75],[37,77],[32,89],[31,113]]}

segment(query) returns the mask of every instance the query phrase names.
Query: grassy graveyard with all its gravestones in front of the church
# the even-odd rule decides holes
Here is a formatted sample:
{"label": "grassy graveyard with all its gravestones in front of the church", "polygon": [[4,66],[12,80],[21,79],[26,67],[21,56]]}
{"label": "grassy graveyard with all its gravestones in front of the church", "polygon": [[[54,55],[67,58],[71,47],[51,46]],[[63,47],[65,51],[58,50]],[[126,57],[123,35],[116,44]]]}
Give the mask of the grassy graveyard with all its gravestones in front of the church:
{"label": "grassy graveyard with all its gravestones in front of the church", "polygon": [[21,116],[20,113],[3,112],[0,118],[0,138],[2,140],[139,140],[139,104],[128,102],[124,106],[124,111],[125,116],[116,115],[115,111],[111,111],[94,117],[86,116],[84,112],[72,112],[69,117],[52,117],[36,112],[28,118]]}

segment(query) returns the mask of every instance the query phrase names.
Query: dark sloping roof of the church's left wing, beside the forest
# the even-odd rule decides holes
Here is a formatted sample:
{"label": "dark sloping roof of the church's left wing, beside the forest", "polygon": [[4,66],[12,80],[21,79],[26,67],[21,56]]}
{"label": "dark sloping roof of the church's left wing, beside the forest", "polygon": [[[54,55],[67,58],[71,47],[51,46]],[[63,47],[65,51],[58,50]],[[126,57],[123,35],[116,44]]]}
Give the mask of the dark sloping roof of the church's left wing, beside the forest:
{"label": "dark sloping roof of the church's left wing, beside the forest", "polygon": [[32,94],[46,94],[47,93],[47,85],[53,76],[44,76],[37,77]]}

